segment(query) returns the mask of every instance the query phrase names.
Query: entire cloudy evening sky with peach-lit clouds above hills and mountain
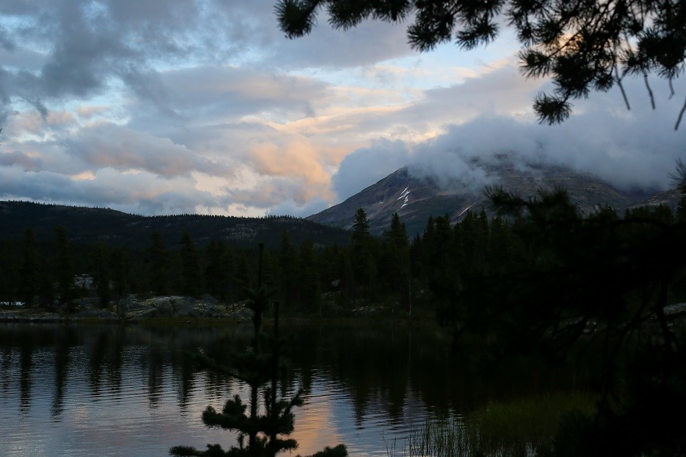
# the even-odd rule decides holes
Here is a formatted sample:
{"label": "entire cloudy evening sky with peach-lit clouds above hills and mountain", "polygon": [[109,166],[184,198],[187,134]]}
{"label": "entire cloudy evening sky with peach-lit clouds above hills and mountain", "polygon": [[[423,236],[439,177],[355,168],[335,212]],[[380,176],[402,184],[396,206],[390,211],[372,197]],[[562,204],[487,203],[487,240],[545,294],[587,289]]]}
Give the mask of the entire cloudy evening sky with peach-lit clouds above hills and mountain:
{"label": "entire cloudy evening sky with peach-lit clouds above hills and mountain", "polygon": [[619,189],[670,187],[686,84],[651,76],[541,126],[545,79],[504,28],[419,54],[405,26],[289,40],[274,0],[0,2],[0,199],[143,215],[307,216],[405,165],[464,179],[509,153]]}

